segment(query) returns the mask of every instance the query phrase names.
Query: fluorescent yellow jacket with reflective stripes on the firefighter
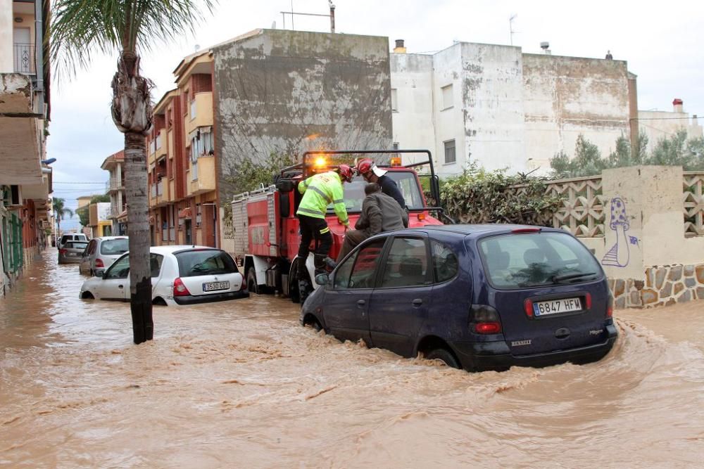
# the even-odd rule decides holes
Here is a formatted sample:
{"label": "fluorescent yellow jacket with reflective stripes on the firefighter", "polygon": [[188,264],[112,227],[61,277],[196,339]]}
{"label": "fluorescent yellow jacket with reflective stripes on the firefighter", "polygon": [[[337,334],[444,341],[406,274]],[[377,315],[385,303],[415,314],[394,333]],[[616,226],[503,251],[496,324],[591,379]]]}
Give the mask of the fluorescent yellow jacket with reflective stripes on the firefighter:
{"label": "fluorescent yellow jacket with reflective stripes on the firefighter", "polygon": [[310,176],[298,183],[298,192],[303,194],[297,215],[325,218],[327,206],[332,203],[337,218],[348,224],[347,209],[343,200],[342,181],[337,172],[329,171]]}

